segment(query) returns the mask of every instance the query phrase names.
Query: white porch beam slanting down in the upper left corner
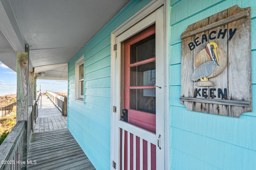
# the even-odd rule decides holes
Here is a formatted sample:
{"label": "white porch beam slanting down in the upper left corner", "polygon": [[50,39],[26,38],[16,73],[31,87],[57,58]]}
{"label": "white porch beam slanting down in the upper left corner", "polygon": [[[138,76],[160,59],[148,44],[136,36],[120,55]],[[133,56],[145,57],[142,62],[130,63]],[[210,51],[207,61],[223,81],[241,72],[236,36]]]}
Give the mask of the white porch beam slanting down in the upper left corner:
{"label": "white porch beam slanting down in the upper left corner", "polygon": [[9,0],[0,0],[0,31],[14,51],[25,52],[25,43]]}

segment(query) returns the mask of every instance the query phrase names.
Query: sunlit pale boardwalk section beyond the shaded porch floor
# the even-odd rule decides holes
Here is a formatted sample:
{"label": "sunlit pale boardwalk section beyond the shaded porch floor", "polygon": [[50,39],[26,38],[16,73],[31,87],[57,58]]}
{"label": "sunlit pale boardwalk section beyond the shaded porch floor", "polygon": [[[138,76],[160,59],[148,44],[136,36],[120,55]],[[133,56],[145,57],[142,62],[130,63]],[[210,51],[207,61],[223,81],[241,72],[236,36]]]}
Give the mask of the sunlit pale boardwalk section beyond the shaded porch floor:
{"label": "sunlit pale boardwalk section beyond the shaded porch floor", "polygon": [[67,129],[67,117],[62,116],[51,100],[42,95],[38,104],[38,119],[34,127],[34,133],[61,129]]}

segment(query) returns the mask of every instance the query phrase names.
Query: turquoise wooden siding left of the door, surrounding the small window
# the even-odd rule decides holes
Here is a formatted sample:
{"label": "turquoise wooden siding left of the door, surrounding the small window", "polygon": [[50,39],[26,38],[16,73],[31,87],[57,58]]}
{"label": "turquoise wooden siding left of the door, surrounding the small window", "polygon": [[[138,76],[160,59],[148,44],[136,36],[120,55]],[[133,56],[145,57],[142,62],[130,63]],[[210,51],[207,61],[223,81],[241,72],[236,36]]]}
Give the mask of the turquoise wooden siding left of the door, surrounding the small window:
{"label": "turquoise wooden siding left of the door, surrounding the small window", "polygon": [[[149,2],[129,2],[68,63],[68,129],[97,170],[110,169],[110,33]],[[82,55],[84,102],[78,102],[75,100],[75,62]]]}

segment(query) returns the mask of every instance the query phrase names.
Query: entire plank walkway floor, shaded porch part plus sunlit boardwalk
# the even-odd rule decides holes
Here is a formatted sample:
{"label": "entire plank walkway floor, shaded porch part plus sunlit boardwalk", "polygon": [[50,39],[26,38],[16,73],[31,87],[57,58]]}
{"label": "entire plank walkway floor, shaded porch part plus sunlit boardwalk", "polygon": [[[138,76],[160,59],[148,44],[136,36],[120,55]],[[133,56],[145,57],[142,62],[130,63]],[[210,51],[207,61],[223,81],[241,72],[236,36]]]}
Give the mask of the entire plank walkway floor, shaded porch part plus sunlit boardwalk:
{"label": "entire plank walkway floor, shaded porch part plus sunlit boardwalk", "polygon": [[27,156],[28,161],[36,164],[27,164],[27,170],[95,170],[67,129],[66,117],[52,106],[52,102],[42,96],[37,129],[31,137]]}

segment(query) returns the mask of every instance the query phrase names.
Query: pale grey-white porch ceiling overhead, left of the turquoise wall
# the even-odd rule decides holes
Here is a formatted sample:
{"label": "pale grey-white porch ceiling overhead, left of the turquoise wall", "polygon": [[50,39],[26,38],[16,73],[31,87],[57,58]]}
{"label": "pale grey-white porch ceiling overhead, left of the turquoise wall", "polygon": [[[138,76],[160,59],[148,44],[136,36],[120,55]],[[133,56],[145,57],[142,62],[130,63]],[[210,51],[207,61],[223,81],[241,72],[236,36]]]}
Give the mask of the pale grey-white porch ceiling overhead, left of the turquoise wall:
{"label": "pale grey-white porch ceiling overhead, left of the turquoise wall", "polygon": [[0,61],[16,71],[30,46],[38,79],[67,80],[67,63],[130,0],[0,0]]}

